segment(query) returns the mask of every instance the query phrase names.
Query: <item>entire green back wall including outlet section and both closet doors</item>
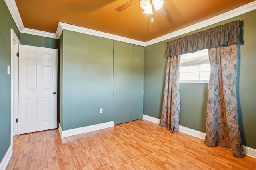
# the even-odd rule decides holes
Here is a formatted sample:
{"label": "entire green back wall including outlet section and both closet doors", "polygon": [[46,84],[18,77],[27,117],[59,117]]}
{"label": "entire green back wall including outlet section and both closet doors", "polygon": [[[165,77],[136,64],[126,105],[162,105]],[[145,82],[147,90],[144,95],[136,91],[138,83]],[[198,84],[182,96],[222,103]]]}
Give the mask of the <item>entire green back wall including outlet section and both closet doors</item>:
{"label": "entire green back wall including outlet section and both closet doors", "polygon": [[142,118],[143,57],[142,46],[63,30],[59,65],[62,129]]}

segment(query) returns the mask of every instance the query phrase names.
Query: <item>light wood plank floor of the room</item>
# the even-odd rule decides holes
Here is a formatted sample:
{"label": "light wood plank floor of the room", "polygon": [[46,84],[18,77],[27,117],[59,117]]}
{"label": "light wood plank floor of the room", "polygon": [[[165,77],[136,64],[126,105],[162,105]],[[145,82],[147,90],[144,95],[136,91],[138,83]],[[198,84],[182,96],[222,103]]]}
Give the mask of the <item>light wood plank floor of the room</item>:
{"label": "light wood plank floor of the room", "polygon": [[8,170],[256,170],[254,158],[234,158],[229,149],[144,119],[63,139],[57,129],[18,135],[13,150]]}

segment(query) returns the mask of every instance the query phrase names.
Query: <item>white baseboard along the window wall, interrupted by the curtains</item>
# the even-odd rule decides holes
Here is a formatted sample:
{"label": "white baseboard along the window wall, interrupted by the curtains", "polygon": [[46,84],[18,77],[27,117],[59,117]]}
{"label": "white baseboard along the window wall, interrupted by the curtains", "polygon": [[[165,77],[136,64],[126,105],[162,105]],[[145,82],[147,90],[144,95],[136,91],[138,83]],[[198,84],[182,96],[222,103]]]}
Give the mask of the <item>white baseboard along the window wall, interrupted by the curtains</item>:
{"label": "white baseboard along the window wall, interrupted by the curtains", "polygon": [[[148,115],[143,115],[143,119],[154,122],[154,123],[158,123],[158,124],[160,122],[160,119],[157,119],[155,117],[151,117],[151,116],[148,116]],[[200,132],[200,131],[197,131],[197,130],[194,130],[194,129],[190,129],[188,127],[184,127],[184,126],[181,126],[181,125],[179,125],[179,131],[182,132],[182,133],[186,133],[188,135],[200,138],[200,139],[205,138],[205,133],[204,132]],[[244,149],[243,154],[256,159],[256,149],[251,148],[251,147],[247,147],[247,146],[244,146],[244,145],[243,145],[243,149]]]}

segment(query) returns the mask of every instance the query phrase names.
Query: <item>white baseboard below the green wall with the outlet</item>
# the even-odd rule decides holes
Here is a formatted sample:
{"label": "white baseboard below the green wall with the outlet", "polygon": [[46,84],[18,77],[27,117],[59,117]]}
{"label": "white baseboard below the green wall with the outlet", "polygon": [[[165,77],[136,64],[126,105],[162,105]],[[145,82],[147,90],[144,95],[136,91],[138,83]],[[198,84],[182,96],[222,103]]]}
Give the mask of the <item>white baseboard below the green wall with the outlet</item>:
{"label": "white baseboard below the green wall with the outlet", "polygon": [[108,127],[113,127],[114,126],[114,121],[109,121],[106,123],[100,123],[100,124],[96,124],[96,125],[90,125],[90,126],[85,126],[85,127],[79,127],[79,128],[75,128],[75,129],[68,129],[68,130],[62,130],[61,125],[59,124],[59,132],[60,132],[60,137],[68,137],[68,136],[72,136],[72,135],[78,135],[81,133],[86,133],[86,132],[91,132],[91,131],[96,131],[96,130],[100,130],[100,129],[105,129]]}

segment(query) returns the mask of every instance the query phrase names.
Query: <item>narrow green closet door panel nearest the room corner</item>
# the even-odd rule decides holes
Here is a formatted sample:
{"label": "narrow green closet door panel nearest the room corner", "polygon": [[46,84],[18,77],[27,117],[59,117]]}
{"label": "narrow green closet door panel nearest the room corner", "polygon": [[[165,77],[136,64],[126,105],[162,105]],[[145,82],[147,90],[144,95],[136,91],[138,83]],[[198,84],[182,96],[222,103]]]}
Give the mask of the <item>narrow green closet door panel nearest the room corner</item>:
{"label": "narrow green closet door panel nearest the room corner", "polygon": [[132,45],[132,112],[131,120],[143,118],[144,47]]}

